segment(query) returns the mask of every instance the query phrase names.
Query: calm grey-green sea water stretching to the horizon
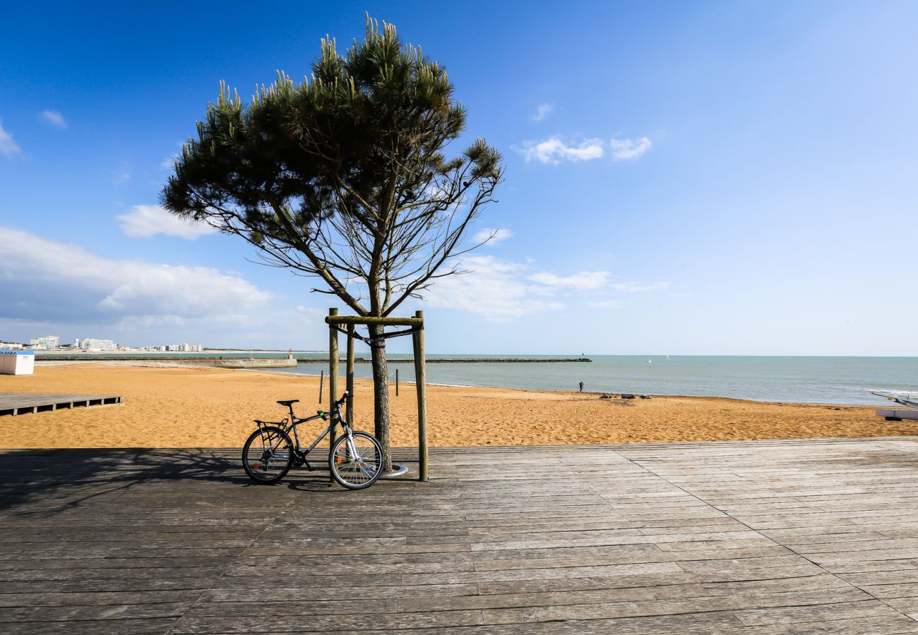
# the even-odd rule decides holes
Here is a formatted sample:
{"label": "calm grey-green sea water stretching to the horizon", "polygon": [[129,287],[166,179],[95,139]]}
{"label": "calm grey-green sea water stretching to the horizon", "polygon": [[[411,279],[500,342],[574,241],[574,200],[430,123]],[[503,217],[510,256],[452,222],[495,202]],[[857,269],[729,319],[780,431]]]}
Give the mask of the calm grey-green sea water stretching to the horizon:
{"label": "calm grey-green sea water stretching to the horizon", "polygon": [[[322,357],[321,354],[299,357]],[[480,355],[477,357],[539,357]],[[360,357],[365,357],[361,355]],[[409,357],[391,355],[390,357]],[[428,359],[476,357],[429,355]],[[871,390],[918,395],[916,357],[740,357],[673,355],[590,355],[591,363],[429,363],[430,384],[500,386],[529,390],[577,390],[591,393],[726,396],[759,401],[823,404],[888,404]],[[328,366],[301,363],[285,373],[318,375]],[[389,373],[414,381],[414,365],[392,363]],[[343,369],[341,369],[343,372]],[[369,364],[358,363],[357,377],[370,377]]]}

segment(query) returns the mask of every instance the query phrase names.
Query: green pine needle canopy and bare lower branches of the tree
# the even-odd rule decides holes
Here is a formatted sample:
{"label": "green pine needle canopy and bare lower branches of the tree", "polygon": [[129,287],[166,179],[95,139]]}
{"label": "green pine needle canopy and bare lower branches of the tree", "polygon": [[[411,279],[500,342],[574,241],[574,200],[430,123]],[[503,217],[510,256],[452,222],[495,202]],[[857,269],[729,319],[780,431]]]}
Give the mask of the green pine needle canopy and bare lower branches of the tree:
{"label": "green pine needle canopy and bare lower branches of the tree", "polygon": [[[318,276],[313,290],[386,316],[438,277],[493,200],[501,157],[465,129],[445,69],[367,17],[344,55],[321,40],[312,72],[284,72],[249,102],[220,84],[162,191],[181,217],[241,236],[263,261]],[[444,266],[446,265],[446,266]]]}

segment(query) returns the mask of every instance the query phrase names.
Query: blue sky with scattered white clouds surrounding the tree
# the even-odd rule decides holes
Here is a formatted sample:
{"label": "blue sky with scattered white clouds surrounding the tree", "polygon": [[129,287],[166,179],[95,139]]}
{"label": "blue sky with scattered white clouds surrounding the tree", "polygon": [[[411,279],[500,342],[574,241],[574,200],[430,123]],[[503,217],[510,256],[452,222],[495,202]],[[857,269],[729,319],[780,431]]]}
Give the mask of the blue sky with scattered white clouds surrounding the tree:
{"label": "blue sky with scattered white clouds surrounding the tree", "polygon": [[909,2],[6,7],[0,339],[325,348],[341,302],[157,196],[220,80],[300,78],[364,11],[506,158],[505,238],[405,306],[429,350],[918,354]]}

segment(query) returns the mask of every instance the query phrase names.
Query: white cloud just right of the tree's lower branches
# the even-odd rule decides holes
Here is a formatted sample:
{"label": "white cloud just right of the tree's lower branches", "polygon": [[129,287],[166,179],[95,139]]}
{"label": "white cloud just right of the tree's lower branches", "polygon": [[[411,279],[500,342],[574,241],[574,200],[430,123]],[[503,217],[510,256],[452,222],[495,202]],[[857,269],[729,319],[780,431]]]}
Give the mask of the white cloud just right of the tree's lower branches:
{"label": "white cloud just right of the tree's lower branches", "polygon": [[469,273],[438,280],[427,293],[425,303],[470,311],[495,322],[564,308],[560,302],[532,297],[535,290],[523,279],[525,265],[494,256],[465,256],[462,268]]}

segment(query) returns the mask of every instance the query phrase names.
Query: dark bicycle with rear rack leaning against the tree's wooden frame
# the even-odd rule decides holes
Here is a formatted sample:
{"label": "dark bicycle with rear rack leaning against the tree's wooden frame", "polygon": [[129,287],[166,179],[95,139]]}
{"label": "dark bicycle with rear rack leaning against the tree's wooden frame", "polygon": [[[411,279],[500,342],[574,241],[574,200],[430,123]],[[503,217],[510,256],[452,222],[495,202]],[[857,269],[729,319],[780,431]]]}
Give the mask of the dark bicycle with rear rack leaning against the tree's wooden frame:
{"label": "dark bicycle with rear rack leaning against the tree's wooden frame", "polygon": [[[289,418],[281,421],[254,419],[258,429],[252,432],[242,447],[242,466],[249,478],[258,484],[271,485],[284,478],[294,465],[305,465],[307,470],[316,469],[308,462],[308,453],[340,424],[341,437],[329,448],[331,477],[348,489],[364,489],[373,485],[382,472],[383,449],[373,435],[355,432],[347,420],[341,417],[341,405],[347,397],[348,394],[345,392],[341,399],[332,405],[331,412],[317,410],[314,417],[308,418],[298,418],[293,412],[293,405],[299,403],[299,399],[285,399],[277,403],[290,408]],[[329,426],[306,450],[303,450],[299,443],[297,426],[318,418],[330,421]],[[293,440],[290,439],[291,431]]]}

